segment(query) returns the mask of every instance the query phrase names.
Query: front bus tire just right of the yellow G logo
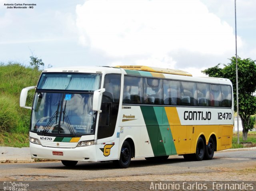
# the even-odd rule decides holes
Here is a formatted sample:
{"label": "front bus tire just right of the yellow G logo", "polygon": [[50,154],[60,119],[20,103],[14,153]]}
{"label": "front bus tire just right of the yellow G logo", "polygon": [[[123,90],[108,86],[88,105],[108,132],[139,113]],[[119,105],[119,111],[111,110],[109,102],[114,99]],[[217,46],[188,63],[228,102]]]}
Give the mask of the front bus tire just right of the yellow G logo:
{"label": "front bus tire just right of the yellow G logo", "polygon": [[127,168],[130,165],[131,158],[132,158],[132,149],[131,149],[130,143],[128,141],[124,141],[121,148],[119,160],[115,160],[113,162],[114,162],[114,165],[118,168]]}

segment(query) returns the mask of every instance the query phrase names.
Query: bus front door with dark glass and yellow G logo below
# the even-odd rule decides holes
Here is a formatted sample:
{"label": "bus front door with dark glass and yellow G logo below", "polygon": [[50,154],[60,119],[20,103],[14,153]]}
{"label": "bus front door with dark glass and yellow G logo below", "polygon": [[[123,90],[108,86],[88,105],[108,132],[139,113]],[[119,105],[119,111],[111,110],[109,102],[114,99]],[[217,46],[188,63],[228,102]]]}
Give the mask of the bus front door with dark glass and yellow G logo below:
{"label": "bus front door with dark glass and yellow G logo below", "polygon": [[104,79],[105,92],[102,96],[98,122],[96,154],[98,160],[118,157],[119,138],[114,134],[120,102],[121,75],[108,74]]}

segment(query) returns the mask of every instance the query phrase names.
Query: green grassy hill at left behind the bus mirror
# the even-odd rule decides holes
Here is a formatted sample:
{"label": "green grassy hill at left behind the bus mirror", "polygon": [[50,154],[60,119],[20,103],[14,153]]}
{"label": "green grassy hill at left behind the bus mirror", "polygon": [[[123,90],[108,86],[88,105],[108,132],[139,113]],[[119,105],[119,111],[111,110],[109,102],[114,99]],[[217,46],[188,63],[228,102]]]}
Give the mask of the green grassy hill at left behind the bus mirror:
{"label": "green grassy hill at left behind the bus mirror", "polygon": [[[0,63],[0,146],[26,147],[31,110],[20,108],[20,92],[34,86],[41,71],[20,63]],[[34,92],[28,93],[32,105]]]}

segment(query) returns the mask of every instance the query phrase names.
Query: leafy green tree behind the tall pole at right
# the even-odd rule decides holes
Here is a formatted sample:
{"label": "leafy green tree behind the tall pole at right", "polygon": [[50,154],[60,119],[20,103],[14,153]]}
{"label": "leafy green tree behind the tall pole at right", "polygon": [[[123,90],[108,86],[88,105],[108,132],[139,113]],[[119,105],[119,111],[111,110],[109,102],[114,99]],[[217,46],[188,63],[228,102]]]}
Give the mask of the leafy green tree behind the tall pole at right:
{"label": "leafy green tree behind the tall pole at right", "polygon": [[[230,63],[220,68],[220,64],[210,67],[202,73],[210,77],[228,78],[233,84],[234,110],[236,111],[236,57],[231,57]],[[250,123],[250,116],[256,113],[256,64],[255,61],[238,57],[238,106],[239,116],[242,120],[243,140],[247,140],[249,130],[253,126]]]}

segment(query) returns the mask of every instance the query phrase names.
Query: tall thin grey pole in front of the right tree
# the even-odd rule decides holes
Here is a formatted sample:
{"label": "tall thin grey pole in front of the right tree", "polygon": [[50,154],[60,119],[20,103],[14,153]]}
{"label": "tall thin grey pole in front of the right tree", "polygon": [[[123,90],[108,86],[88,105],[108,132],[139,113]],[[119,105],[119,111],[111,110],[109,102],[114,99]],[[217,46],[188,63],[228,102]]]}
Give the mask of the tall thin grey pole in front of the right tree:
{"label": "tall thin grey pole in front of the right tree", "polygon": [[[236,0],[235,0],[235,31],[236,31]],[[238,108],[237,42],[236,42],[236,116],[237,116],[237,143],[239,144],[239,108]]]}

